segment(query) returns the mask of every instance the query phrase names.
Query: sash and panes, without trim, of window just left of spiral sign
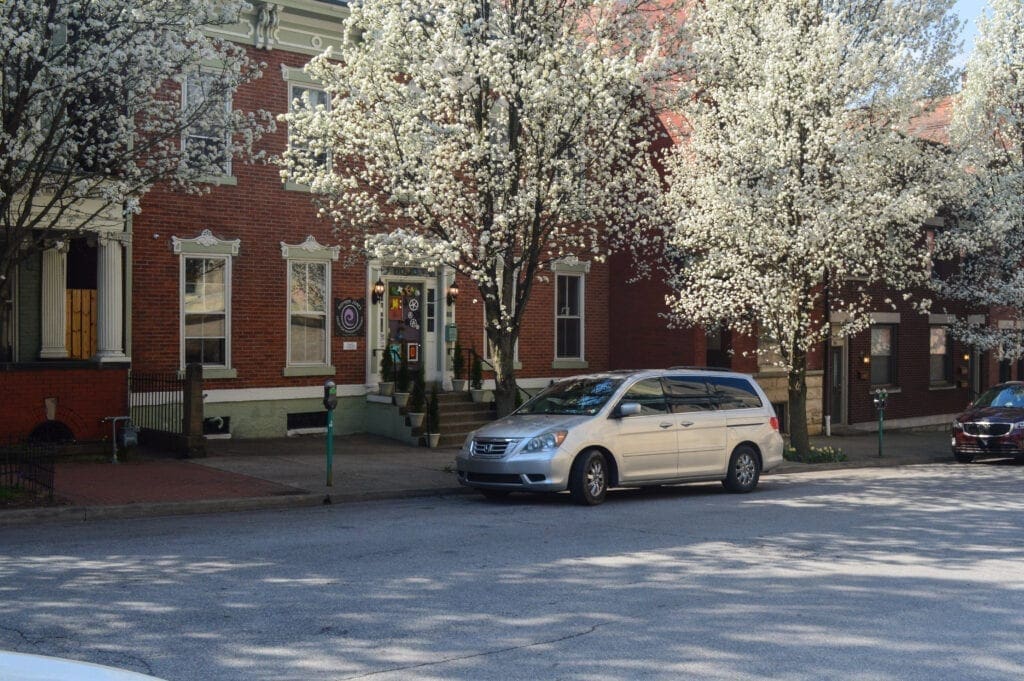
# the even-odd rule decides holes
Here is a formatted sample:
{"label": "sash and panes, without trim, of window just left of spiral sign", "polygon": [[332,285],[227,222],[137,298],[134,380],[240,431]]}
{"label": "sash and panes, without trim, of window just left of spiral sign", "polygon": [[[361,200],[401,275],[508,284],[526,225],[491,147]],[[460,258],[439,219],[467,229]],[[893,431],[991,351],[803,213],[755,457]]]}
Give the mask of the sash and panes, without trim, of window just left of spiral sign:
{"label": "sash and panes, without trim, of window just left of spiral sign", "polygon": [[327,365],[328,263],[288,263],[288,364]]}

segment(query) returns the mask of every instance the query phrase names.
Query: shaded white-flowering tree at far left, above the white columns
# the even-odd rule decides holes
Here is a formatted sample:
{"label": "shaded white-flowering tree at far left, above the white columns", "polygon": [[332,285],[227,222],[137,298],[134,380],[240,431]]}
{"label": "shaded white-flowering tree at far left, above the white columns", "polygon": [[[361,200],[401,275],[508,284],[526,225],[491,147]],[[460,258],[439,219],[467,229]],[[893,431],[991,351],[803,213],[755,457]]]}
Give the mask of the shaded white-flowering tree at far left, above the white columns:
{"label": "shaded white-flowering tree at far left, above the white columns", "polygon": [[[86,228],[112,208],[136,211],[160,180],[195,188],[251,151],[261,122],[225,104],[258,68],[208,33],[237,23],[242,7],[0,2],[0,300],[11,298],[17,262],[54,230]],[[0,338],[9,312],[0,306]]]}

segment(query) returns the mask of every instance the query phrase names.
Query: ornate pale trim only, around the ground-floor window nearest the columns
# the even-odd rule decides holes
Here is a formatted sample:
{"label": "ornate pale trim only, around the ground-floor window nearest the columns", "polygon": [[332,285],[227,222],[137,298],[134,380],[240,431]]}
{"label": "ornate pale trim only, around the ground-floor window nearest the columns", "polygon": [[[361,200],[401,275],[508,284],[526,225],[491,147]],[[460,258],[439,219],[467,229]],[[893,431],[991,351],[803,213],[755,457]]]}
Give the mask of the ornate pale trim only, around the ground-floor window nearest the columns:
{"label": "ornate pale trim only, around the ground-floor window nearest the columns", "polygon": [[204,229],[194,239],[171,237],[171,249],[178,256],[178,368],[185,370],[185,258],[223,258],[224,265],[224,364],[203,365],[203,378],[237,378],[231,365],[231,289],[232,260],[239,254],[242,240],[218,239]]}

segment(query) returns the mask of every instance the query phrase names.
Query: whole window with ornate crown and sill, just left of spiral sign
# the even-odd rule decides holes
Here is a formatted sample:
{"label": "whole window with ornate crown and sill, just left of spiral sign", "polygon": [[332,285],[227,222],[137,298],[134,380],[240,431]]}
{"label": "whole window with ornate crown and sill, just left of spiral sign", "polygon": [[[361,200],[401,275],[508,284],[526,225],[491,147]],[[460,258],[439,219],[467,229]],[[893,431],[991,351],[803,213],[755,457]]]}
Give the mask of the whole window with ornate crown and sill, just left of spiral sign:
{"label": "whole window with ornate crown and sill, just left of spiral sign", "polygon": [[[281,244],[288,266],[288,357],[286,375],[332,373],[331,262],[340,247],[307,237],[302,244]],[[298,368],[298,369],[295,369]],[[295,372],[299,372],[296,374]]]}

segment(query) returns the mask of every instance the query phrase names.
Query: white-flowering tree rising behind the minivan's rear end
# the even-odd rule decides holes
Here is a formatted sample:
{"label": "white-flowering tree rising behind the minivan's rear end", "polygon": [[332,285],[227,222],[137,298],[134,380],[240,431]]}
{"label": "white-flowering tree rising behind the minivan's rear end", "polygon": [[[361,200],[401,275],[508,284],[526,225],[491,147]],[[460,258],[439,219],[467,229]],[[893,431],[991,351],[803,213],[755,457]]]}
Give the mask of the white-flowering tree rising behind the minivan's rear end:
{"label": "white-flowering tree rising behind the minivan's rear end", "polygon": [[808,351],[828,312],[854,333],[868,286],[926,281],[920,229],[939,205],[942,154],[903,131],[951,85],[950,5],[707,0],[688,22],[669,304],[680,323],[778,344],[801,454]]}

